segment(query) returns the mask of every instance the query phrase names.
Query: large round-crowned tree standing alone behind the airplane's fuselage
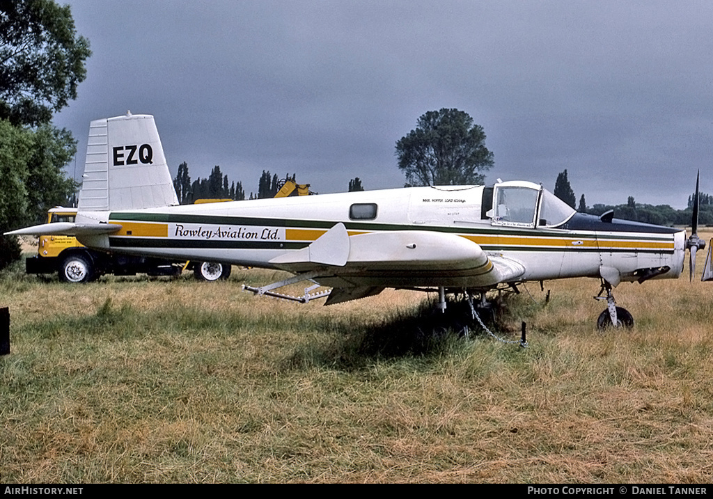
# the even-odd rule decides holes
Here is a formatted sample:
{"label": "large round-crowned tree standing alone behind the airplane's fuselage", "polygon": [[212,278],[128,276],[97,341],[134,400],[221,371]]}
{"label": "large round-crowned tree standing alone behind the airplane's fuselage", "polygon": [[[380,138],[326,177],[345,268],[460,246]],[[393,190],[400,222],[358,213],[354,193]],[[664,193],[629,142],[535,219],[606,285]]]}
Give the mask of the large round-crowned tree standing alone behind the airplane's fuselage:
{"label": "large round-crowned tree standing alone behind the airplane's fuselage", "polygon": [[396,142],[399,170],[411,185],[481,184],[493,166],[481,125],[468,113],[443,108],[421,115],[416,129]]}

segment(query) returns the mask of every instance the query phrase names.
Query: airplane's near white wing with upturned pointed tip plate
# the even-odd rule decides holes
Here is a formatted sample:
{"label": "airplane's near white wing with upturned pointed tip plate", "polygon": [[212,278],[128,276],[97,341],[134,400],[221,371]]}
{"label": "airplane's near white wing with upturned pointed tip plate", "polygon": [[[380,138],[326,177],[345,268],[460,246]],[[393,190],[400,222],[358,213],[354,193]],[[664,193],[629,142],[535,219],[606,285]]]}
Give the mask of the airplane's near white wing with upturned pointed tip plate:
{"label": "airplane's near white wing with upturned pointed tip plate", "polygon": [[515,281],[520,262],[488,256],[476,242],[435,230],[369,232],[349,236],[337,223],[311,245],[284,252],[270,264],[300,273],[314,269],[316,282],[333,287],[329,303],[372,296],[384,287],[488,289]]}

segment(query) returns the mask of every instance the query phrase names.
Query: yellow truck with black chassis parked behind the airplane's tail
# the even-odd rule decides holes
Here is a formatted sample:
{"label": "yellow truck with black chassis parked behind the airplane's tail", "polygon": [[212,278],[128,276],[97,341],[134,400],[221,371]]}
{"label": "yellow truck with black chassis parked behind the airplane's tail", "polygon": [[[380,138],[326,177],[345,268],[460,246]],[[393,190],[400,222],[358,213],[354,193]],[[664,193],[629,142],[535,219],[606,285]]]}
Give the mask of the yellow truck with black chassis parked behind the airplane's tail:
{"label": "yellow truck with black chassis parked behind the airplane's tail", "polygon": [[[47,213],[47,222],[74,222],[76,208],[54,207]],[[89,282],[103,274],[179,275],[193,270],[197,279],[217,281],[230,276],[230,264],[216,262],[171,262],[150,257],[99,252],[89,249],[70,236],[41,236],[37,254],[26,259],[28,274],[57,272],[64,282]]]}

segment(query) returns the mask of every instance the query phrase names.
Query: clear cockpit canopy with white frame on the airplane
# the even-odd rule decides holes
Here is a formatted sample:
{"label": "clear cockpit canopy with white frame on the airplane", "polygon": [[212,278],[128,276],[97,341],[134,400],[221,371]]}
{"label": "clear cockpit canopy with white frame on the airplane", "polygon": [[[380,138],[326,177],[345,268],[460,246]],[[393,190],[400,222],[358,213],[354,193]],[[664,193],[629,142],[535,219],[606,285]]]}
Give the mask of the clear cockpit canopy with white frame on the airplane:
{"label": "clear cockpit canopy with white frame on the airplane", "polygon": [[575,210],[541,185],[501,182],[495,185],[491,213],[488,215],[493,225],[557,227],[567,222]]}

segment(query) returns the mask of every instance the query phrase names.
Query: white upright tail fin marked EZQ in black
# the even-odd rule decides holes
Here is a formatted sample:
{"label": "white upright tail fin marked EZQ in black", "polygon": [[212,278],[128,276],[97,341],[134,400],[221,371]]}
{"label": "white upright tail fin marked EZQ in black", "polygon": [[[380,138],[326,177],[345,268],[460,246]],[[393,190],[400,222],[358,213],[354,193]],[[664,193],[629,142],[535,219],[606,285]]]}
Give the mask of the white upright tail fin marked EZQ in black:
{"label": "white upright tail fin marked EZQ in black", "polygon": [[93,120],[89,125],[79,211],[178,205],[152,115]]}

